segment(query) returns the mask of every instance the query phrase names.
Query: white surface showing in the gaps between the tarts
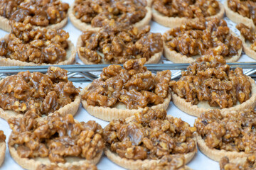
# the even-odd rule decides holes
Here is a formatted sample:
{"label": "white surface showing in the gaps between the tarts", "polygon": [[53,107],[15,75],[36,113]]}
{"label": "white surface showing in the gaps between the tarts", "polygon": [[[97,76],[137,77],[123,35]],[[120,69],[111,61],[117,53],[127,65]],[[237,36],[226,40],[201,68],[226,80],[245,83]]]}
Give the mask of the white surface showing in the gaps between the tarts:
{"label": "white surface showing in the gaps between the tarts", "polygon": [[[63,0],[67,2],[68,4],[73,3],[72,0]],[[223,1],[222,1],[223,2]],[[230,27],[231,30],[233,30],[235,33],[238,35],[240,34],[239,31],[235,28],[235,23],[230,21],[228,18],[225,17],[225,21],[227,21],[228,26]],[[151,21],[151,32],[153,33],[164,33],[166,30],[169,30],[169,28],[166,28],[164,26],[160,26],[158,23],[155,23],[154,21]],[[70,34],[70,40],[73,42],[74,45],[76,45],[76,42],[78,40],[78,37],[81,35],[81,31],[75,28],[70,20],[68,20],[68,24],[63,28],[65,31],[68,31]],[[7,33],[3,30],[0,30],[0,35],[1,38],[4,37]],[[80,64],[82,62],[78,59],[78,56],[76,56],[76,61]],[[161,62],[164,63],[171,63],[169,61],[166,61],[163,57]],[[238,62],[255,62],[255,60],[251,59],[250,57],[247,57],[244,52],[242,52],[242,56],[240,57],[240,60]],[[171,69],[171,68],[170,68]],[[80,86],[80,87],[85,87],[87,83],[85,84],[78,84],[75,83],[75,86]],[[169,108],[168,108],[168,114],[173,115],[177,118],[181,118],[182,120],[186,121],[189,123],[191,126],[193,126],[194,120],[196,117],[193,117],[191,115],[188,115],[186,113],[183,113],[180,111],[176,106],[174,106],[174,103],[170,103]],[[97,119],[93,117],[92,115],[88,114],[87,111],[85,111],[84,108],[80,105],[80,108],[78,110],[78,113],[75,115],[75,119],[79,121],[85,121],[87,122],[88,120],[95,120],[97,123],[100,123],[102,125],[102,128],[105,128],[108,122],[104,120]],[[9,128],[8,123],[6,120],[0,118],[0,130],[4,130],[4,134],[6,135],[6,142],[8,141],[9,135],[11,134],[11,129]],[[212,161],[208,157],[206,157],[204,154],[202,154],[199,150],[195,157],[192,159],[192,161],[188,164],[188,166],[191,169],[197,169],[197,170],[217,170],[219,168],[218,162]],[[102,159],[100,160],[99,164],[97,164],[98,169],[111,169],[111,170],[117,170],[117,169],[123,169],[122,167],[112,163],[107,157],[104,155],[102,156]],[[21,166],[16,164],[14,162],[14,159],[11,158],[11,155],[9,154],[8,148],[6,149],[6,157],[4,160],[4,164],[0,167],[2,170],[19,170],[22,169]],[[139,167],[138,167],[139,169]]]}

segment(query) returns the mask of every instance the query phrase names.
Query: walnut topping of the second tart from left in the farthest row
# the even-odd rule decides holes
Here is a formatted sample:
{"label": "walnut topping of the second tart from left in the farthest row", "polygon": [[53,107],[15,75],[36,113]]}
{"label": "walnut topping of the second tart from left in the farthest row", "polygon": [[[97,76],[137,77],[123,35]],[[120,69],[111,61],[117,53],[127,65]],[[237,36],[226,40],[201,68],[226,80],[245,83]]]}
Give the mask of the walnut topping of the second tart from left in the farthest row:
{"label": "walnut topping of the second tart from left in the farthest row", "polygon": [[75,0],[73,13],[76,18],[92,27],[102,27],[107,20],[132,25],[146,16],[145,0]]}

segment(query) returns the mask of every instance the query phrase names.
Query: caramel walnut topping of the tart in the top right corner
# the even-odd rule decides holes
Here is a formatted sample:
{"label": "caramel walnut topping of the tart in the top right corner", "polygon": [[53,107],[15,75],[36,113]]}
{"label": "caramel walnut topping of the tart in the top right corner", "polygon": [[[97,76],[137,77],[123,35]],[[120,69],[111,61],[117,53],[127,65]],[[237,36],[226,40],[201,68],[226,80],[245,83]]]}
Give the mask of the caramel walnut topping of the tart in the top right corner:
{"label": "caramel walnut topping of the tart in the top right corner", "polygon": [[256,2],[254,0],[228,0],[228,7],[241,16],[251,18],[256,23]]}

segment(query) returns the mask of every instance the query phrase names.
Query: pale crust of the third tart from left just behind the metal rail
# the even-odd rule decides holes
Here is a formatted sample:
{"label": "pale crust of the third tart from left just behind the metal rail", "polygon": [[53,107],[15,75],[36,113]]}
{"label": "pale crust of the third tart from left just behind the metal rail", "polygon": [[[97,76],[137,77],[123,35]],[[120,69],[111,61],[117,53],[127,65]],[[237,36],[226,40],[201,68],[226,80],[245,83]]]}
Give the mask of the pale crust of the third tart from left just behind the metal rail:
{"label": "pale crust of the third tart from left just behind the metal rail", "polygon": [[[230,30],[230,33],[235,37],[237,37],[237,35],[232,30]],[[226,62],[236,62],[239,60],[241,54],[242,54],[242,47],[238,50],[238,55],[234,55],[233,57],[224,57],[224,58]],[[175,50],[170,50],[169,47],[167,47],[166,43],[164,42],[164,57],[166,57],[166,59],[174,63],[191,63],[191,62],[195,62],[196,58],[200,57],[200,55],[196,55],[192,57],[181,55],[180,52],[176,52]]]}

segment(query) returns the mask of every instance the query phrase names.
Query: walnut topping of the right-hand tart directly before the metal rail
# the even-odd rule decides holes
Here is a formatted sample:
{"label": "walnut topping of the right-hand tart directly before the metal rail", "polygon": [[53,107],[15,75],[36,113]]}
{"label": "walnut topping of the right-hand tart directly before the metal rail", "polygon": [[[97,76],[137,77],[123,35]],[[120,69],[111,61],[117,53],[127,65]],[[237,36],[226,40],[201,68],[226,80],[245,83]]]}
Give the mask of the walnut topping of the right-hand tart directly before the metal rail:
{"label": "walnut topping of the right-hand tart directly before the metal rail", "polygon": [[231,70],[222,56],[204,55],[183,71],[181,79],[170,82],[171,89],[194,105],[208,101],[210,106],[230,108],[250,98],[249,77],[241,68]]}

